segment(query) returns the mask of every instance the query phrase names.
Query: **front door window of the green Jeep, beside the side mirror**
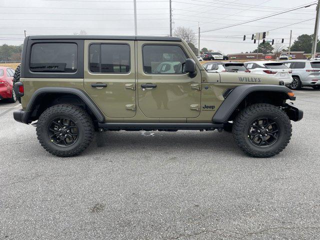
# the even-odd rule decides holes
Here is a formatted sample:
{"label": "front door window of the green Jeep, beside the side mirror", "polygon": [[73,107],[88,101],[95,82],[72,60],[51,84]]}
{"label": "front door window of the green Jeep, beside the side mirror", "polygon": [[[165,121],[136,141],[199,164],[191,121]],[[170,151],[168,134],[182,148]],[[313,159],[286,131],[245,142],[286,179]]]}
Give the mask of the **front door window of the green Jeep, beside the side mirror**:
{"label": "front door window of the green Jeep, beside the side mirror", "polygon": [[176,45],[144,45],[143,70],[145,73],[181,74],[187,58]]}

